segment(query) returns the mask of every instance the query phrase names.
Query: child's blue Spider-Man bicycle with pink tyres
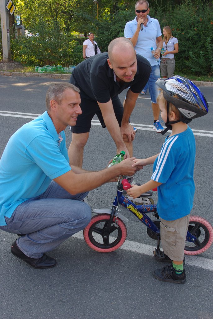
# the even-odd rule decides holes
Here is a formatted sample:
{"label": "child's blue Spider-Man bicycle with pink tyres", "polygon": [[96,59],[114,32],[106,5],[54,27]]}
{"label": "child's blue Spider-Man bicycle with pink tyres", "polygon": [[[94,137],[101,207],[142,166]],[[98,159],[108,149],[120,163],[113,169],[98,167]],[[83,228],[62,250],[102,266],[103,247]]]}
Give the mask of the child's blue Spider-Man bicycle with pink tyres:
{"label": "child's blue Spider-Man bicycle with pink tyres", "polygon": [[[149,237],[157,240],[157,249],[154,254],[160,251],[160,219],[157,213],[157,205],[141,204],[137,205],[137,199],[130,201],[126,195],[123,195],[124,189],[129,189],[131,185],[126,179],[118,181],[117,196],[114,199],[112,208],[95,209],[98,213],[92,217],[88,226],[84,229],[84,239],[92,249],[99,252],[111,252],[123,245],[126,239],[126,226],[124,221],[127,218],[119,213],[119,204],[131,211],[147,227]],[[149,202],[153,202],[150,198]],[[147,203],[144,198],[144,203]],[[152,220],[147,214],[153,213],[155,217]],[[185,244],[186,255],[198,255],[207,250],[213,242],[213,227],[204,218],[199,216],[190,216],[188,232]]]}

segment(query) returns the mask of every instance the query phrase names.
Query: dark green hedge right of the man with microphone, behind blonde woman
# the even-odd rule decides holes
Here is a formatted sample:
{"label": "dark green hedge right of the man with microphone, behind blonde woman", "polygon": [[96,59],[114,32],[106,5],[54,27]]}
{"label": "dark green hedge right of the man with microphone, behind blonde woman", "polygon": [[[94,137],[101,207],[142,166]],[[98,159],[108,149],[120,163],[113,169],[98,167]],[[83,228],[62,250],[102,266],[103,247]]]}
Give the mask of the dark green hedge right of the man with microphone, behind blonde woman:
{"label": "dark green hedge right of the man with microphone, behind blonde woman", "polygon": [[175,8],[155,5],[155,17],[161,29],[170,26],[178,39],[179,52],[175,54],[175,74],[213,75],[213,5],[190,0]]}

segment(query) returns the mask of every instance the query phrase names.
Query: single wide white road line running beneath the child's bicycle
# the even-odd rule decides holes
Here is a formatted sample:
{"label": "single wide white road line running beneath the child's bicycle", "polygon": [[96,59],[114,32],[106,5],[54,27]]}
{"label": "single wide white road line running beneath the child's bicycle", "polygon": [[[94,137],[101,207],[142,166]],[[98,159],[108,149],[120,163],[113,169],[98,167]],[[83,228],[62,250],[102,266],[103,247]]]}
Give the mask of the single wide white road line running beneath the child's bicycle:
{"label": "single wide white road line running beneath the child's bicycle", "polygon": [[[80,231],[80,232],[72,235],[72,237],[84,240],[83,231]],[[119,249],[128,250],[128,251],[131,251],[133,253],[153,256],[153,250],[155,248],[156,248],[156,246],[150,246],[150,245],[142,244],[140,242],[126,240],[126,241],[124,241],[124,244]],[[203,268],[206,270],[213,271],[213,260],[212,259],[200,257],[197,255],[196,256],[188,256],[187,255],[187,256],[185,256],[185,258],[186,258],[186,264],[189,266],[194,266],[194,267]],[[162,266],[163,266],[163,264],[162,264]]]}

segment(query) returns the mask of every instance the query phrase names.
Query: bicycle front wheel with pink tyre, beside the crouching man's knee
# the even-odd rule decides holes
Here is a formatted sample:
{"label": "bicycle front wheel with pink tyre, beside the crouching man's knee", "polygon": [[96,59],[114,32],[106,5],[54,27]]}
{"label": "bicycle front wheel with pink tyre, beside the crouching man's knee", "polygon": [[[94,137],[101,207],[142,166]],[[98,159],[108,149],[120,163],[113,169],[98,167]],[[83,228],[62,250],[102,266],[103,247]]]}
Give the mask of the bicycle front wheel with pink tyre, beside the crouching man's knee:
{"label": "bicycle front wheel with pink tyre, beside the crouching man's knee", "polygon": [[93,216],[83,231],[84,239],[89,247],[102,253],[118,249],[126,239],[126,226],[118,217],[113,218],[109,231],[106,231],[109,219],[109,214]]}

